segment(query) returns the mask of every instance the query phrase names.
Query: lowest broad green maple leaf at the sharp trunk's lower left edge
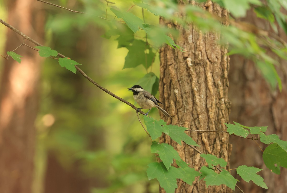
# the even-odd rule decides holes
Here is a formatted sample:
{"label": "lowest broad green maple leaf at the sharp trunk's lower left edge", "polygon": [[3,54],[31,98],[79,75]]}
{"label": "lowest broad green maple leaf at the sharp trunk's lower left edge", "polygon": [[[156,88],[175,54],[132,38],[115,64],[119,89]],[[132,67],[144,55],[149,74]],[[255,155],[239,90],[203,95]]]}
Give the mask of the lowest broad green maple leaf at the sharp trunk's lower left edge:
{"label": "lowest broad green maple leaf at the sharp trunk's lower left edge", "polygon": [[175,188],[177,188],[177,178],[183,177],[180,170],[173,166],[167,170],[162,162],[148,164],[146,172],[148,174],[148,179],[151,180],[156,178],[166,193],[174,193]]}

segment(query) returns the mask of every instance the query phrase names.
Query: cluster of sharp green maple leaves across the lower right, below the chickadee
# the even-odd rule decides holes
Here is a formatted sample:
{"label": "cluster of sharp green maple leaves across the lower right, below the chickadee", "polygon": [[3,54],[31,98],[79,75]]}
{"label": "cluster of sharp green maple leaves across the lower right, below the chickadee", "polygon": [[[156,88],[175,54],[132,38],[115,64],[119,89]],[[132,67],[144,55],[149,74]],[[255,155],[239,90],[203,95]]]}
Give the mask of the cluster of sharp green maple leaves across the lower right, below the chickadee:
{"label": "cluster of sharp green maple leaves across the lower right, below the chickadee", "polygon": [[[157,121],[151,117],[144,117],[144,121],[146,123],[147,131],[150,133],[150,136],[153,140],[160,137],[162,133],[165,133],[180,145],[181,141],[184,141],[189,145],[198,146],[191,137],[184,133],[184,131],[186,130],[186,128],[184,127],[179,127],[176,125],[166,125],[163,120]],[[230,133],[230,135],[236,132],[237,135],[240,135],[242,137],[246,137],[250,133],[255,133],[258,135],[260,134],[260,136],[266,136],[263,132],[266,131],[267,127],[247,127],[239,123],[236,123],[236,125],[226,125],[228,127],[228,132]],[[244,129],[243,127],[247,128],[248,130]],[[281,147],[279,147],[276,143],[274,143],[277,142],[281,144],[283,148],[286,148],[287,142],[280,140],[278,136],[276,136],[277,135],[267,135],[265,138],[261,139],[263,143],[269,144],[273,142],[272,145],[269,145],[269,147],[265,149],[263,153],[263,159],[264,162],[265,160],[268,160],[267,162],[265,162],[265,164],[274,173],[278,172],[280,166],[286,167],[287,164],[287,152],[284,151]],[[285,153],[280,151],[280,149],[278,148],[281,148]],[[207,186],[218,186],[221,184],[225,184],[233,190],[235,188],[237,180],[228,171],[223,169],[224,167],[226,167],[227,162],[222,158],[218,158],[215,155],[211,154],[201,154],[200,156],[205,159],[208,167],[203,166],[199,171],[196,171],[194,168],[189,168],[188,164],[181,159],[178,152],[173,149],[171,145],[153,141],[151,151],[152,153],[156,153],[161,161],[148,165],[148,178],[149,180],[157,178],[160,183],[160,186],[164,188],[167,193],[172,193],[174,192],[174,189],[177,188],[176,179],[182,179],[187,184],[192,185],[193,181],[197,176],[200,176],[199,180],[204,179]],[[271,152],[273,152],[273,154],[271,154]],[[173,165],[175,163],[177,167]],[[276,168],[274,168],[274,164],[277,164]],[[220,166],[223,168],[221,168],[219,172],[215,170],[215,166]],[[255,167],[238,166],[236,172],[246,182],[252,180],[258,186],[267,189],[266,184],[263,182],[263,178],[256,174],[261,170],[262,169],[258,169]]]}

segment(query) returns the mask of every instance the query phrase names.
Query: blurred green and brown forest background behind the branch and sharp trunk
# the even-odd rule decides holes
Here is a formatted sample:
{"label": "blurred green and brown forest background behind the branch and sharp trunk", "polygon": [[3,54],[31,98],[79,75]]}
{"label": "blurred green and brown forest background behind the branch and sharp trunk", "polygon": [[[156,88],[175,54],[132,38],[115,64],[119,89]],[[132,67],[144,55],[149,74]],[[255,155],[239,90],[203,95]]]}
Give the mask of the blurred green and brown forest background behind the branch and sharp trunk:
{"label": "blurred green and brown forest background behind the branch and sharp trunk", "polygon": [[[84,12],[91,11],[92,6],[97,5],[97,9],[93,10],[94,14],[107,13],[111,20],[114,17],[109,10],[111,4],[108,4],[107,12],[105,11],[104,1],[99,4],[92,1],[52,3]],[[142,9],[133,5],[132,1],[115,1],[115,6],[121,10],[129,10],[142,17]],[[266,30],[274,30],[274,26],[257,18],[253,9],[250,7],[242,20],[253,22]],[[144,14],[150,24],[158,24],[159,16],[149,11]],[[0,18],[12,26],[17,26],[16,28],[25,34],[30,33],[30,37],[42,44],[83,64],[81,69],[91,78],[132,104],[135,104],[132,93],[128,92],[127,88],[138,83],[147,72],[153,72],[159,77],[158,52],[152,68],[148,70],[144,65],[124,68],[125,57],[130,50],[125,47],[117,49],[119,44],[114,41],[117,37],[109,38],[110,34],[106,33],[110,27],[106,19],[92,18],[90,15],[73,13],[32,0],[1,1]],[[286,41],[284,29],[276,25],[277,33]],[[13,33],[4,25],[0,26],[1,55],[5,56],[6,51],[14,50],[22,43],[22,38]],[[139,32],[138,36],[144,37],[144,33]],[[155,156],[150,152],[150,139],[139,125],[133,109],[107,96],[78,72],[73,74],[61,68],[57,65],[57,60],[44,60],[36,51],[24,46],[20,47],[17,53],[26,54],[21,64],[11,64],[11,58],[9,61],[4,58],[0,61],[1,89],[5,87],[7,80],[10,80],[7,72],[15,68],[15,76],[12,79],[15,80],[15,89],[19,93],[15,97],[21,99],[18,100],[19,112],[25,113],[16,115],[12,120],[15,126],[25,125],[28,129],[16,129],[11,133],[1,130],[1,140],[8,142],[1,146],[2,161],[5,156],[8,157],[8,160],[11,160],[8,168],[14,170],[10,170],[9,174],[2,172],[0,176],[2,179],[7,179],[7,175],[19,179],[14,182],[0,182],[3,190],[13,187],[11,192],[29,192],[32,184],[32,192],[47,193],[158,192],[158,182],[148,181],[146,176],[147,165],[155,161]],[[34,55],[36,58],[33,58]],[[31,61],[36,62],[32,64]],[[27,66],[32,68],[29,70]],[[286,140],[286,61],[282,60],[276,68],[279,69],[278,74],[282,80],[281,92],[276,81],[265,81],[252,62],[238,55],[230,57],[230,122],[236,121],[247,126],[268,126],[268,134],[275,133],[280,139]],[[20,82],[23,85],[19,84]],[[158,92],[156,97],[160,98]],[[7,114],[2,112],[1,117]],[[160,118],[156,109],[150,112],[150,116]],[[26,122],[30,118],[34,121]],[[263,168],[266,173],[262,172],[261,175],[265,176],[267,186],[273,188],[271,190],[284,190],[285,177],[268,173],[260,158],[260,148],[254,141],[232,136],[230,143],[233,144],[232,153],[235,154],[231,156],[231,165],[238,166],[240,163]],[[5,152],[8,146],[11,149]],[[253,154],[255,157],[250,156]],[[23,158],[29,155],[33,155],[32,162],[23,162]],[[20,167],[19,170],[15,165]],[[281,176],[286,176],[286,169],[281,170]],[[22,178],[25,179],[20,180]],[[243,182],[242,186],[247,192],[258,192],[253,182]]]}

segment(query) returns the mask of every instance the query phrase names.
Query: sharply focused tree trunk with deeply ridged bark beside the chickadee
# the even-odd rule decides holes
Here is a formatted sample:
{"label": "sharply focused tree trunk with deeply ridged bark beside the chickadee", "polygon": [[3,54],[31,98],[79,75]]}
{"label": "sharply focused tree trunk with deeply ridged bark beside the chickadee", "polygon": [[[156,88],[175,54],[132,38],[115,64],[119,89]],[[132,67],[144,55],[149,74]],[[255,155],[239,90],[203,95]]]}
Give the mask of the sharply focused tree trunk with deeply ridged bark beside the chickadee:
{"label": "sharply focused tree trunk with deeply ridged bark beside the chickadee", "polygon": [[[183,2],[179,1],[179,4]],[[199,6],[219,17],[228,18],[228,12],[211,1]],[[228,122],[230,110],[227,97],[229,57],[226,55],[227,46],[217,44],[221,38],[220,34],[203,34],[192,24],[188,29],[184,29],[181,25],[165,21],[162,17],[160,23],[179,31],[180,36],[176,44],[186,51],[174,50],[169,46],[160,50],[160,100],[172,116],[172,119],[166,119],[167,123],[196,130],[226,131],[224,123]],[[229,162],[231,146],[227,133],[189,131],[187,134],[200,145],[198,149],[201,152],[216,155]],[[175,147],[181,158],[191,164],[192,168],[199,170],[202,166],[207,166],[205,159],[189,146],[180,146],[167,135],[162,135],[160,142]],[[160,192],[164,190],[161,189]],[[225,185],[207,188],[203,180],[199,181],[196,178],[193,186],[178,181],[176,192],[232,190]]]}

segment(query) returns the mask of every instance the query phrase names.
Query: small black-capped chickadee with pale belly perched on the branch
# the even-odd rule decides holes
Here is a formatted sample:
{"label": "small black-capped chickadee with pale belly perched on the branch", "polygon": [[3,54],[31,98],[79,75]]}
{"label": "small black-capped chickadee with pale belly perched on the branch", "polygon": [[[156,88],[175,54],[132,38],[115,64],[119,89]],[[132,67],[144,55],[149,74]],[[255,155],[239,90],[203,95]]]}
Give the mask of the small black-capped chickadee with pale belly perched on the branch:
{"label": "small black-capped chickadee with pale belly perched on the branch", "polygon": [[[161,103],[156,97],[152,96],[148,91],[144,90],[139,85],[134,85],[131,88],[128,88],[128,90],[133,91],[133,99],[135,99],[135,102],[139,104],[142,108],[138,108],[137,112],[139,112],[140,109],[152,109],[152,107],[156,107],[158,110],[160,110],[166,117],[170,117],[170,114],[168,114],[166,111],[164,111],[160,106],[158,106],[158,103]],[[163,104],[163,103],[161,103]],[[150,110],[148,110],[150,112]],[[146,115],[148,115],[148,112]]]}

